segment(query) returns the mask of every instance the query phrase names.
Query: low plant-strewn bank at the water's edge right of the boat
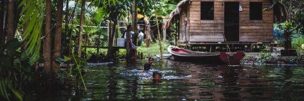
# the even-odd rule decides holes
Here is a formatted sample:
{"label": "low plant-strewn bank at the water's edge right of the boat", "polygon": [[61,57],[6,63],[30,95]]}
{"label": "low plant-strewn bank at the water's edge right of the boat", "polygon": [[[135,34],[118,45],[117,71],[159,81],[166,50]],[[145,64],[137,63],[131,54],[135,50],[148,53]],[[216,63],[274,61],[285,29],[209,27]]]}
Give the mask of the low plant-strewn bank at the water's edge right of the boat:
{"label": "low plant-strewn bank at the water's edge right of the boat", "polygon": [[281,56],[280,53],[245,53],[244,65],[304,65],[304,55]]}

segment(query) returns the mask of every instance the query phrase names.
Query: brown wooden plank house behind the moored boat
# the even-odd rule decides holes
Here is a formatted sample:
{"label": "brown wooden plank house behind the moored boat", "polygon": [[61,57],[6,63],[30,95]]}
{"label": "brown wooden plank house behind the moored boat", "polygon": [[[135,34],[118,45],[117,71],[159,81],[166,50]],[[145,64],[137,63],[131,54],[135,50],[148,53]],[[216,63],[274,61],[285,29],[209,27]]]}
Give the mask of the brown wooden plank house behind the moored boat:
{"label": "brown wooden plank house behind the moored boat", "polygon": [[167,23],[178,23],[177,45],[192,50],[244,51],[273,43],[274,12],[262,11],[271,0],[183,0],[171,12]]}

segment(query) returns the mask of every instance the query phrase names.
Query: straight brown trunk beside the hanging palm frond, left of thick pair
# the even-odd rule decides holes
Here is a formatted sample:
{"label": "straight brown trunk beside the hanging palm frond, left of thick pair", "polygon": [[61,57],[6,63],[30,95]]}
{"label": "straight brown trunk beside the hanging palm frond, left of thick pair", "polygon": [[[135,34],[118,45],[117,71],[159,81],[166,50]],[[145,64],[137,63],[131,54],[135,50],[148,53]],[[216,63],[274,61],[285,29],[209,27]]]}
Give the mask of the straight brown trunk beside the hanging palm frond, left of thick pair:
{"label": "straight brown trunk beside the hanging palm frond, left of thick pair", "polygon": [[46,0],[46,32],[44,39],[44,69],[47,72],[47,76],[51,76],[52,71],[52,57],[51,57],[51,0]]}

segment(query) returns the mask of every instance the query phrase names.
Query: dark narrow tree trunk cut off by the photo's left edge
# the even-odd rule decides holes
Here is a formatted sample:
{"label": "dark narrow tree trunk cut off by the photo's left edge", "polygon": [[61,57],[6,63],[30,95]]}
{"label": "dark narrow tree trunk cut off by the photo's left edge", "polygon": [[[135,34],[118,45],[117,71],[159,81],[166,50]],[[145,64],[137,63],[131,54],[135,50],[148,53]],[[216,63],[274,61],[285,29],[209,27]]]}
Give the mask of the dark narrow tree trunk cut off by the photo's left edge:
{"label": "dark narrow tree trunk cut off by the photo's left edge", "polygon": [[0,2],[0,45],[2,45],[2,40],[4,39],[3,24],[4,24],[4,1]]}

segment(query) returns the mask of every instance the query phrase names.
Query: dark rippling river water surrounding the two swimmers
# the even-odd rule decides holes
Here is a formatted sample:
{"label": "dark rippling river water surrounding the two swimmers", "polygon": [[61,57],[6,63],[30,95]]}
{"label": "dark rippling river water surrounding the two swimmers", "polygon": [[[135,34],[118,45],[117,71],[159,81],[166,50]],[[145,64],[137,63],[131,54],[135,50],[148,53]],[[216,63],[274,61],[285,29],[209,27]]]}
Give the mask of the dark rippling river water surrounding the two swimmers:
{"label": "dark rippling river water surrounding the two swimmers", "polygon": [[[279,66],[218,66],[155,61],[125,61],[90,67],[84,75],[88,90],[28,93],[25,100],[301,100],[304,68]],[[153,71],[163,79],[151,80]]]}

